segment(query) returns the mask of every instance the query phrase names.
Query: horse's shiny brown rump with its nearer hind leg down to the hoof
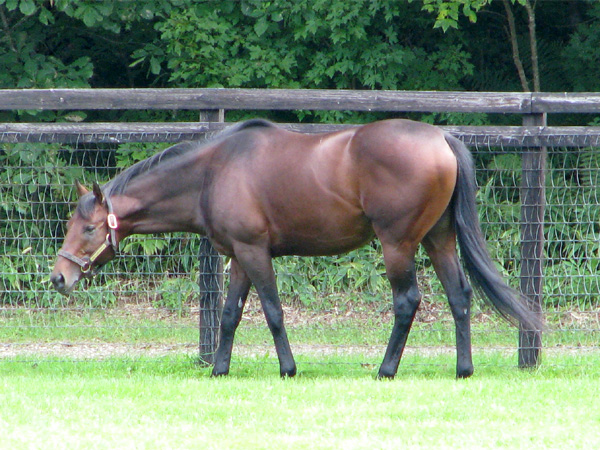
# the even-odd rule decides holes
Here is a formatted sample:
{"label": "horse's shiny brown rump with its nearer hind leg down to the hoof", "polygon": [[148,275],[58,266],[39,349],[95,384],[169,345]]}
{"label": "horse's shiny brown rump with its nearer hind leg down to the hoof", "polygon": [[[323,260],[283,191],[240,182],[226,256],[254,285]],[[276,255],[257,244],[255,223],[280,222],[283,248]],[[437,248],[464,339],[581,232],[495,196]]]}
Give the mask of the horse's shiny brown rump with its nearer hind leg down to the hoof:
{"label": "horse's shiny brown rump with its nearer hind leg down to the hoof", "polygon": [[456,158],[441,131],[404,120],[365,126],[352,154],[365,215],[382,244],[394,325],[379,376],[396,374],[420,303],[415,252],[450,203]]}

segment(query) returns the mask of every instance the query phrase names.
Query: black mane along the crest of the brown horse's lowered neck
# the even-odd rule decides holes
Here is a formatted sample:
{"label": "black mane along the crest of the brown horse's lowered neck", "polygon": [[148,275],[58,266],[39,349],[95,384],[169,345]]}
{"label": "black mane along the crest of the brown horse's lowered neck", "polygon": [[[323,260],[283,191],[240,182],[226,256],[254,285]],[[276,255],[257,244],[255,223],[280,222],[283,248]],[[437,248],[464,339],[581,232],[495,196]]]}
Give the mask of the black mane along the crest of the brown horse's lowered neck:
{"label": "black mane along the crest of the brown horse's lowered neck", "polygon": [[225,128],[223,131],[216,133],[214,136],[205,138],[200,141],[184,141],[169,147],[162,152],[157,153],[143,161],[140,161],[133,166],[125,169],[111,181],[109,181],[103,188],[105,195],[119,195],[122,194],[129,183],[139,177],[140,175],[151,172],[152,170],[162,167],[165,164],[173,162],[175,159],[181,158],[191,151],[200,150],[205,148],[209,144],[213,144],[216,141],[221,141],[230,137],[231,135],[238,133],[248,128],[273,128],[277,127],[272,122],[265,119],[250,119],[244,122],[236,123],[230,127]]}

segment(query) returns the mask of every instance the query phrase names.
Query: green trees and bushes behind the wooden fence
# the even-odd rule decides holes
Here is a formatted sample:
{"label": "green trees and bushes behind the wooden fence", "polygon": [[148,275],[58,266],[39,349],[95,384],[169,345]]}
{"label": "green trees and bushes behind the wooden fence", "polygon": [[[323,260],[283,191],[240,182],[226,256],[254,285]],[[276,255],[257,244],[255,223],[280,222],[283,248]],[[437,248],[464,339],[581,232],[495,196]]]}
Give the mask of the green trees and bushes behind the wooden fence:
{"label": "green trees and bushes behind the wooden fence", "polygon": [[[0,0],[0,88],[50,87],[250,87],[546,91],[597,90],[600,71],[600,2],[529,0]],[[384,114],[264,112],[277,121],[370,121]],[[227,120],[255,116],[231,112]],[[484,114],[422,114],[437,124],[519,124],[520,118]],[[0,111],[0,121],[195,120],[174,112]],[[560,124],[587,124],[589,116],[558,116]],[[103,150],[103,151],[100,151]],[[109,151],[104,151],[109,150]],[[39,273],[62,235],[76,178],[106,180],[155,150],[3,145],[0,148],[0,292],[19,301],[40,299]],[[477,153],[486,231],[507,245],[495,249],[500,266],[515,272],[518,235],[518,156]],[[557,151],[549,159],[547,296],[552,304],[597,301],[597,169],[591,150]],[[95,166],[112,167],[100,171]],[[88,169],[85,169],[87,167]],[[595,171],[594,171],[595,170]],[[49,210],[48,205],[52,206]],[[562,206],[561,206],[562,205]],[[574,205],[580,205],[575,207]],[[501,211],[504,216],[493,220]],[[27,218],[24,221],[23,218]],[[491,219],[490,219],[491,218]],[[592,227],[581,230],[585,218]],[[43,224],[43,225],[42,225]],[[162,255],[178,240],[130,241],[125,250]],[[568,247],[561,242],[570,242]],[[195,244],[192,244],[195,245]],[[46,246],[41,248],[41,246]],[[50,247],[47,247],[50,246]],[[379,294],[387,291],[377,245],[349,257],[285,259],[284,292],[308,303],[316,292]],[[9,257],[7,255],[17,255]],[[31,257],[33,256],[33,257]],[[152,258],[140,269],[152,272]],[[127,262],[120,270],[127,271]],[[129,264],[133,264],[130,262]],[[136,263],[137,264],[137,263]],[[194,273],[194,258],[167,273]],[[131,267],[130,267],[131,269]],[[424,268],[427,270],[427,267]],[[306,283],[306,280],[311,280]],[[167,279],[166,292],[193,293],[193,283]],[[179,284],[177,284],[179,283]],[[184,283],[184,282],[183,282]],[[571,290],[565,289],[571,284]],[[37,286],[33,289],[33,286]],[[115,301],[112,288],[101,304]],[[571,292],[571,296],[565,292]],[[1,301],[14,298],[1,294]],[[29,298],[29,297],[31,298]],[[161,301],[169,302],[169,294]],[[177,296],[176,296],[177,297]],[[100,297],[98,297],[100,298]],[[177,301],[177,300],[171,300]]]}

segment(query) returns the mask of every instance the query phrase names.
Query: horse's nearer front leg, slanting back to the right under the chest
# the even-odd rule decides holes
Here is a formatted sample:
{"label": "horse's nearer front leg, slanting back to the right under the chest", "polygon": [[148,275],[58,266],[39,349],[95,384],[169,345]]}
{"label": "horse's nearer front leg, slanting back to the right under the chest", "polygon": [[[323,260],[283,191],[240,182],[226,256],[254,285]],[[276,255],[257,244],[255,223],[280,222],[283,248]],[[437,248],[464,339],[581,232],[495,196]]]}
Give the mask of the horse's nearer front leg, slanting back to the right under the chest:
{"label": "horse's nearer front leg, slanting back to the right under the chest", "polygon": [[267,325],[273,336],[282,377],[296,375],[296,362],[283,323],[283,309],[277,292],[271,255],[266,248],[238,244],[234,246],[236,258],[256,287]]}

